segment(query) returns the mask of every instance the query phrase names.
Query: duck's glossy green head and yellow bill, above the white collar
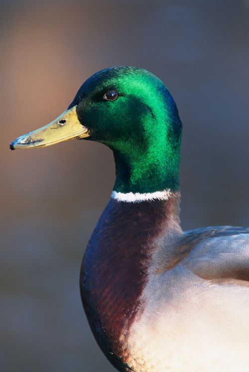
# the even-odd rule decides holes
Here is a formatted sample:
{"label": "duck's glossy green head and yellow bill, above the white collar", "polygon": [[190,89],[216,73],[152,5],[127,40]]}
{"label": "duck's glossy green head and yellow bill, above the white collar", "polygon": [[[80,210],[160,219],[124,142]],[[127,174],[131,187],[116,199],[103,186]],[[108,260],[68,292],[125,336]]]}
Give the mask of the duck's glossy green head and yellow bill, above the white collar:
{"label": "duck's glossy green head and yellow bill, above the white collar", "polygon": [[98,141],[114,152],[116,192],[177,191],[181,129],[161,80],[140,68],[111,67],[86,80],[62,115],[16,138],[10,148]]}

